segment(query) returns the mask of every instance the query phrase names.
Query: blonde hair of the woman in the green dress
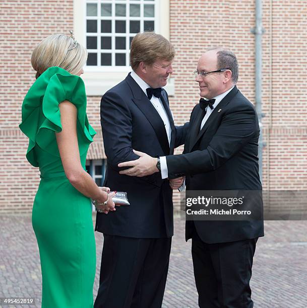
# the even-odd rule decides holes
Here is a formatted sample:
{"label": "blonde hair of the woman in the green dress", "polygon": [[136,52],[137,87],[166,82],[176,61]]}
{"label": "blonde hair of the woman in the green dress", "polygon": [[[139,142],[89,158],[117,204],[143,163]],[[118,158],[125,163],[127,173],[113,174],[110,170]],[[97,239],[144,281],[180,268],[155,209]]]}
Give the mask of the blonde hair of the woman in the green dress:
{"label": "blonde hair of the woman in the green dress", "polygon": [[87,59],[87,50],[65,34],[53,34],[43,39],[33,50],[31,64],[36,70],[36,79],[49,67],[58,66],[71,74],[80,72]]}

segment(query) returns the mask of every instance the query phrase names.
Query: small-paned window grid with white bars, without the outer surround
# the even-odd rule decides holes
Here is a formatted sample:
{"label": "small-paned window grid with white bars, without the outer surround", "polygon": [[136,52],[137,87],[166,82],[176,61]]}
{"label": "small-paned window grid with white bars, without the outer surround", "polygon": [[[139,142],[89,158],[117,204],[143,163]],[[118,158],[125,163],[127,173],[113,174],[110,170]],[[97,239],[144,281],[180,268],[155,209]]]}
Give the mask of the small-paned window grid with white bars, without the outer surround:
{"label": "small-paned window grid with white bars, without the outer surround", "polygon": [[129,67],[131,41],[157,29],[156,11],[156,0],[87,0],[87,67]]}

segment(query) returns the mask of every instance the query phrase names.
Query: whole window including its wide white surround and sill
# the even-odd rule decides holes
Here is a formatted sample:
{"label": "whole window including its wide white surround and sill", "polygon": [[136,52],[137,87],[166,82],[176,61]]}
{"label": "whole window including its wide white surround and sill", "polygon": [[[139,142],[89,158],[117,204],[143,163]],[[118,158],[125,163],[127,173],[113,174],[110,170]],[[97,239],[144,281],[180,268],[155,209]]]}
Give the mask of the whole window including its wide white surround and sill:
{"label": "whole window including its wide white surround and sill", "polygon": [[[81,75],[88,96],[102,96],[126,78],[131,40],[139,28],[153,28],[169,39],[169,0],[74,0],[74,35],[89,53]],[[165,90],[174,95],[172,78]]]}

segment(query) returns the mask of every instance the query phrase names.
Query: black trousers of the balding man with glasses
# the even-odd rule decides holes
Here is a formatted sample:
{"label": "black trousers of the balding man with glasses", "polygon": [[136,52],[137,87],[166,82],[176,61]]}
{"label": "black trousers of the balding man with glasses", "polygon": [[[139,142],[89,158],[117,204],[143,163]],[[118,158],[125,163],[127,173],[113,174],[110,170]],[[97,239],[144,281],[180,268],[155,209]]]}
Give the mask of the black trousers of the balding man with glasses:
{"label": "black trousers of the balding man with glasses", "polygon": [[252,308],[250,280],[256,239],[206,244],[196,233],[192,258],[201,308]]}

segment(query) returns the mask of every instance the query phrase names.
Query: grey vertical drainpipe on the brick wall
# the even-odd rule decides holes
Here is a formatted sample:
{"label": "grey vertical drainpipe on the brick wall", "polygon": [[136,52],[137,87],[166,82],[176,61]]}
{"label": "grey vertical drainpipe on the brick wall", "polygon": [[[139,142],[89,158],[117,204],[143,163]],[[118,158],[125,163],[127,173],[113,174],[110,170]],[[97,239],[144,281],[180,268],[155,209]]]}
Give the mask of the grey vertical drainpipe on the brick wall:
{"label": "grey vertical drainpipe on the brick wall", "polygon": [[262,34],[264,29],[262,28],[262,0],[256,0],[256,27],[252,29],[252,33],[255,34],[255,102],[256,112],[259,120],[260,136],[258,147],[259,158],[259,176],[262,181],[262,151],[264,147],[262,136]]}

